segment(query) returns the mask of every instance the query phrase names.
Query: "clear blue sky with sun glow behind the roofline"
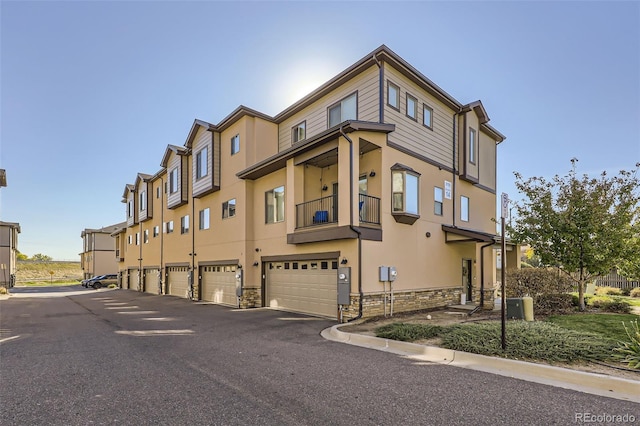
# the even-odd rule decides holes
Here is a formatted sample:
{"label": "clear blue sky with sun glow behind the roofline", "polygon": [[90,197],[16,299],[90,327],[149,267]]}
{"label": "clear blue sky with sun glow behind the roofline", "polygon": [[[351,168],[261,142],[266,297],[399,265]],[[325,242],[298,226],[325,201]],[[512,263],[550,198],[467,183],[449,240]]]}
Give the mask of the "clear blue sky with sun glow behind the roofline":
{"label": "clear blue sky with sun glow behind the roofline", "polygon": [[639,2],[0,3],[0,220],[19,250],[78,260],[125,219],[195,118],[275,115],[386,44],[507,136],[498,194],[525,177],[640,161]]}

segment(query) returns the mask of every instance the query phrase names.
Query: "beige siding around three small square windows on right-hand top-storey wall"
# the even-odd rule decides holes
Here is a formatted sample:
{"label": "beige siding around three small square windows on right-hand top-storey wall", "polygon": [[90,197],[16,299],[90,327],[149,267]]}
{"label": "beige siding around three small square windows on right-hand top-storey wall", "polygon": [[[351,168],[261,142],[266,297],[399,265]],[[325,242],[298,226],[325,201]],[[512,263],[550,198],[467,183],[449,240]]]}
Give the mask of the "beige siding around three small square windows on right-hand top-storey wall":
{"label": "beige siding around three small square windows on right-hand top-storey wall", "polygon": [[[400,87],[400,111],[387,105],[387,81]],[[404,77],[388,63],[384,64],[383,92],[384,121],[396,125],[396,130],[389,135],[389,141],[450,168],[453,164],[451,144],[453,143],[454,111]],[[407,92],[418,100],[417,121],[407,117]],[[433,109],[433,130],[422,124],[423,104]]]}

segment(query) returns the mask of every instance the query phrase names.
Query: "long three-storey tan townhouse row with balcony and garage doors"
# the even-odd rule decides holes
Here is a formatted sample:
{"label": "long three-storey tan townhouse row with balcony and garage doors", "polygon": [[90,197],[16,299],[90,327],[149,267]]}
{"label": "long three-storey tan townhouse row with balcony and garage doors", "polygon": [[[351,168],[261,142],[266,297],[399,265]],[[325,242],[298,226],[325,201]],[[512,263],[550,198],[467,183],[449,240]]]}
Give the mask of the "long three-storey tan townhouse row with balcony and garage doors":
{"label": "long three-storey tan townhouse row with balcony and garage doors", "polygon": [[340,320],[492,308],[505,137],[488,122],[386,46],[275,117],[195,120],[125,187],[122,287]]}

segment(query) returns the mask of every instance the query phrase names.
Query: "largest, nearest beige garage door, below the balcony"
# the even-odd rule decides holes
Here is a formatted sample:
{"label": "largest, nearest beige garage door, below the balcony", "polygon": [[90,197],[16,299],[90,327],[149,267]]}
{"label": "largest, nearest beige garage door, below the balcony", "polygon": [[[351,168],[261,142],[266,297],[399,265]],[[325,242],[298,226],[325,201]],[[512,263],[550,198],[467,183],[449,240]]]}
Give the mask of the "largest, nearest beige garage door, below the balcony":
{"label": "largest, nearest beige garage door, below the balcony", "polygon": [[267,262],[265,266],[266,306],[337,317],[337,261]]}

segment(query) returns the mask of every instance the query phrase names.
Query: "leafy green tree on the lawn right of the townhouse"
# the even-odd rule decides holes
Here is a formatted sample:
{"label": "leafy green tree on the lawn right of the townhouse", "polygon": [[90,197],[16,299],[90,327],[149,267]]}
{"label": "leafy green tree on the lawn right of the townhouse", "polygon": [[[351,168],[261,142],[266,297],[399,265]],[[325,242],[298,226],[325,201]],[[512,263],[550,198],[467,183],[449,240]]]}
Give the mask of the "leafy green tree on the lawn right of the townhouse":
{"label": "leafy green tree on the lawn right of the townhouse", "polygon": [[578,286],[584,310],[586,283],[628,259],[629,241],[640,220],[640,163],[608,177],[578,176],[577,159],[566,176],[524,179],[515,173],[524,195],[516,204],[510,229],[514,240],[529,244],[544,265],[559,267]]}

